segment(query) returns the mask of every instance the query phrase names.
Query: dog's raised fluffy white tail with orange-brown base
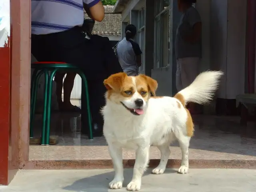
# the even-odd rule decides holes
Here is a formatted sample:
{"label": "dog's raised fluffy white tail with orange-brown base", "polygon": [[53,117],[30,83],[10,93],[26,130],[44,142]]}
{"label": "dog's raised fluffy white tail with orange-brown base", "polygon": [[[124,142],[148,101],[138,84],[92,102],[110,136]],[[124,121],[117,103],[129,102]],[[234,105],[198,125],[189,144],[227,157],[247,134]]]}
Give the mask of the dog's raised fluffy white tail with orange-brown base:
{"label": "dog's raised fluffy white tail with orange-brown base", "polygon": [[187,102],[206,104],[212,100],[223,74],[222,71],[202,72],[192,84],[178,92],[174,98],[180,100],[183,106],[186,106]]}

